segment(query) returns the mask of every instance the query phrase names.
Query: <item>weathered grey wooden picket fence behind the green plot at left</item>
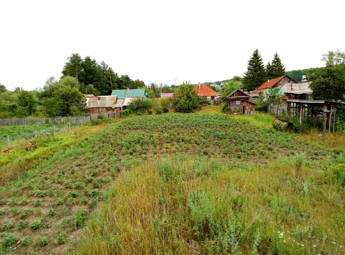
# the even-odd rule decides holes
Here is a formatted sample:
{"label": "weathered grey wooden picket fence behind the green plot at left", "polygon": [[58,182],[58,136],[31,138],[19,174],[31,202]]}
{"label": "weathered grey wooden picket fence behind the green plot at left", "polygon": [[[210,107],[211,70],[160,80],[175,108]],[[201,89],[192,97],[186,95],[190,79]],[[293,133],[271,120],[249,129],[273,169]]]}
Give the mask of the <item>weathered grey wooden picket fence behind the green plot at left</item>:
{"label": "weathered grey wooden picket fence behind the green plot at left", "polygon": [[29,124],[50,124],[54,123],[59,125],[61,123],[89,123],[92,120],[98,118],[99,115],[103,115],[106,118],[116,119],[120,117],[121,111],[109,111],[107,113],[90,114],[88,116],[76,116],[76,117],[61,117],[56,116],[54,118],[21,118],[21,119],[0,119],[0,126],[12,126],[12,125],[29,125]]}

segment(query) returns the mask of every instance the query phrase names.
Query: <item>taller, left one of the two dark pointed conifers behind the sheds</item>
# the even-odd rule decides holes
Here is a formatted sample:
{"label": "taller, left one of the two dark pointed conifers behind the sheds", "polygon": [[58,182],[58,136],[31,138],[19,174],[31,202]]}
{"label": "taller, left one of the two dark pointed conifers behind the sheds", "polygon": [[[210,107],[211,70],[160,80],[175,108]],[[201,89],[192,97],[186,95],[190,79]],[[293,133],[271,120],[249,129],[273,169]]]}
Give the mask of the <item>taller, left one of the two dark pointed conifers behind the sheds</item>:
{"label": "taller, left one of the two dark pointed conifers behind the sheds", "polygon": [[255,90],[267,80],[264,62],[256,49],[248,60],[248,70],[243,77],[243,84],[247,91]]}

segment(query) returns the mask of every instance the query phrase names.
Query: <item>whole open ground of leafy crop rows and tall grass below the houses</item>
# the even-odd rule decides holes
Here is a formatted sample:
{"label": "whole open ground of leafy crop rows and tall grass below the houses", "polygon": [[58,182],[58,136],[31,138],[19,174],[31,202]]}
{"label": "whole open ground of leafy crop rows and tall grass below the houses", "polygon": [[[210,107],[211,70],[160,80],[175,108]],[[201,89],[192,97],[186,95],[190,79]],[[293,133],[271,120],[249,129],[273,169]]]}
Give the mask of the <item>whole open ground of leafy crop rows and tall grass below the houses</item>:
{"label": "whole open ground of leafy crop rows and tall grass below the houses", "polygon": [[132,117],[15,149],[3,254],[345,254],[344,135],[271,120]]}

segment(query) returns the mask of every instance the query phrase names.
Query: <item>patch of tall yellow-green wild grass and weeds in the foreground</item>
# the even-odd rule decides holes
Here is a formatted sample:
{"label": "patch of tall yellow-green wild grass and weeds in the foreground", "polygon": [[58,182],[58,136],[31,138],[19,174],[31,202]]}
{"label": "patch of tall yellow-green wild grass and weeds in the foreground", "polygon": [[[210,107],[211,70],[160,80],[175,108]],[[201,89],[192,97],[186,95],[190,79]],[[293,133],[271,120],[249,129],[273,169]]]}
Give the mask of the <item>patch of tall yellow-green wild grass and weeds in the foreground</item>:
{"label": "patch of tall yellow-green wild grass and weeds in the foreground", "polygon": [[148,160],[120,174],[76,254],[343,254],[343,190],[308,165]]}

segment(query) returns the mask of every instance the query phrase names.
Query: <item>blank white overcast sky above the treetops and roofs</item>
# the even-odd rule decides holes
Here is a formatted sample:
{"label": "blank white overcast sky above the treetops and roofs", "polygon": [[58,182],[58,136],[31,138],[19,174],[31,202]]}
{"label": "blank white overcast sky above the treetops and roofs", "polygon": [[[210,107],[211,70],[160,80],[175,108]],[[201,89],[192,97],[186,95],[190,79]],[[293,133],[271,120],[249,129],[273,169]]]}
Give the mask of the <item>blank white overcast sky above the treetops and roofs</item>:
{"label": "blank white overcast sky above the treetops and roofs", "polygon": [[1,1],[0,83],[34,89],[71,53],[146,84],[243,75],[254,49],[286,70],[345,50],[345,1]]}

